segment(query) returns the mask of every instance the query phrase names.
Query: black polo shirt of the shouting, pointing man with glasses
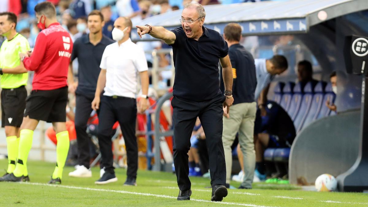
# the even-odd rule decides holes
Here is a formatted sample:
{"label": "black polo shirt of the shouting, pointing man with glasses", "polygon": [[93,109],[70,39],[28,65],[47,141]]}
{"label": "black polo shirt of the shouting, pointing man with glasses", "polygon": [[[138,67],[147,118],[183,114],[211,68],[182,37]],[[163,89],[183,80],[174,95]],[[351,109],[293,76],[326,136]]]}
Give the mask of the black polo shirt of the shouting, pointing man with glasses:
{"label": "black polo shirt of the shouting, pointing man with glasses", "polygon": [[176,35],[171,45],[175,66],[173,95],[197,102],[221,94],[218,63],[229,51],[219,32],[202,29],[203,35],[198,41],[187,38],[182,27],[171,30]]}

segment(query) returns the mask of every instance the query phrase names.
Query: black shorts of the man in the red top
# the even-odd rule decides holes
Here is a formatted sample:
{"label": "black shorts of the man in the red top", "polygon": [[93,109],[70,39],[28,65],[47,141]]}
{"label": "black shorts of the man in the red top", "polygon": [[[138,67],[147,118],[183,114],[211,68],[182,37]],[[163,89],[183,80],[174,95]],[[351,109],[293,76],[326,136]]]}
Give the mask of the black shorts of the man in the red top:
{"label": "black shorts of the man in the red top", "polygon": [[24,117],[46,122],[66,122],[68,87],[34,90],[26,99]]}

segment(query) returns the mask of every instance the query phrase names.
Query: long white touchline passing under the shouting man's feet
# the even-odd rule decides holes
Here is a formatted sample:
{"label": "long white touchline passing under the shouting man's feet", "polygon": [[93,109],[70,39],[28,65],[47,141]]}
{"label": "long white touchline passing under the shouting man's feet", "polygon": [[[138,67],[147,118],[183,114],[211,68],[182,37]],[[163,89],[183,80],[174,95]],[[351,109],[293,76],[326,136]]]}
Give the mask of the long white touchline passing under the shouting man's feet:
{"label": "long white touchline passing under the shouting man's feet", "polygon": [[[114,192],[114,193],[123,193],[123,194],[134,194],[140,196],[155,196],[167,199],[177,199],[174,196],[166,196],[160,194],[152,194],[152,193],[139,193],[139,192],[130,192],[125,190],[108,190],[108,189],[99,189],[99,188],[90,188],[90,187],[76,187],[76,186],[66,186],[66,185],[52,185],[52,184],[44,184],[44,183],[29,183],[29,182],[19,182],[20,184],[26,185],[40,185],[40,186],[50,186],[50,187],[64,187],[68,189],[79,189],[79,190],[93,190],[93,191],[101,191],[101,192]],[[198,201],[204,203],[213,203],[213,204],[225,204],[225,205],[237,205],[237,206],[251,206],[251,207],[268,207],[268,206],[258,206],[255,204],[245,204],[245,203],[233,203],[233,202],[215,202],[209,200],[202,200],[202,199],[191,199],[191,201]]]}

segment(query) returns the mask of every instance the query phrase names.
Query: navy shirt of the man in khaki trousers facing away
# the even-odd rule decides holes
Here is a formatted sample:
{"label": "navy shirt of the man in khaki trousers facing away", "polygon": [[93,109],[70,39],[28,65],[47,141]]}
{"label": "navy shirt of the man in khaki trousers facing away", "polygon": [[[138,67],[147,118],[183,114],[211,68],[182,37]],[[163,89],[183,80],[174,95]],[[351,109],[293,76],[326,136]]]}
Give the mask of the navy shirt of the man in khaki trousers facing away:
{"label": "navy shirt of the man in khaki trousers facing away", "polygon": [[[234,103],[254,102],[254,92],[257,86],[257,77],[253,56],[240,44],[231,45],[229,57],[233,67],[233,97]],[[224,92],[224,83],[221,76],[221,91]]]}

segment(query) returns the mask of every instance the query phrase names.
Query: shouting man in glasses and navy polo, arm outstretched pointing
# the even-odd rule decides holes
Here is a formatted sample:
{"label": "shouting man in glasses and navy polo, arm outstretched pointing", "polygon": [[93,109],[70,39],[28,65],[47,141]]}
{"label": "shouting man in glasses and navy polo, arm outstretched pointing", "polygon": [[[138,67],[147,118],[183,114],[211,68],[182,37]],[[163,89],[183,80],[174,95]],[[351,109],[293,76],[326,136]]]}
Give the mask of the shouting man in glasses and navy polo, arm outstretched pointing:
{"label": "shouting man in glasses and navy polo, arm outstretched pointing", "polygon": [[[209,151],[212,201],[227,196],[226,166],[222,145],[222,107],[233,104],[233,74],[224,38],[203,26],[205,10],[201,4],[188,3],[181,14],[181,27],[171,31],[151,25],[137,26],[140,36],[150,34],[173,47],[175,82],[171,101],[174,126],[174,165],[180,189],[178,200],[190,200],[188,150],[197,117],[201,120]],[[220,60],[225,94],[220,91]]]}

